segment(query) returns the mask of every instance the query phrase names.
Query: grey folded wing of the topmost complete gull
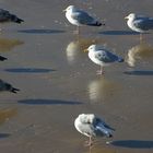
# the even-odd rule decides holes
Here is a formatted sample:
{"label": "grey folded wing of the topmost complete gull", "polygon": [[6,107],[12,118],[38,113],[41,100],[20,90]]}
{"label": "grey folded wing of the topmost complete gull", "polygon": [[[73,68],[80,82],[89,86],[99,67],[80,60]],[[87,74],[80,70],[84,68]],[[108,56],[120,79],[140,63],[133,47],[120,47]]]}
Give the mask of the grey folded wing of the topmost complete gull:
{"label": "grey folded wing of the topmost complete gull", "polygon": [[81,24],[91,24],[93,23],[95,20],[89,15],[86,12],[84,11],[76,11],[74,13],[72,13],[71,15],[74,20],[78,20]]}

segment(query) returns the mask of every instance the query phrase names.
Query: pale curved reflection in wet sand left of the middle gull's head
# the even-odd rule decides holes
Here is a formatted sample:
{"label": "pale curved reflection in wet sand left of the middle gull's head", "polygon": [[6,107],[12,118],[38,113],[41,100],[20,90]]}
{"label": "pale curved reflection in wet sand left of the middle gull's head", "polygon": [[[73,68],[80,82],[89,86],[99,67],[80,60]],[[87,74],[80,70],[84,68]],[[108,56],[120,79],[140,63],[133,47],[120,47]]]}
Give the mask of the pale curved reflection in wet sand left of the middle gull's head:
{"label": "pale curved reflection in wet sand left of the middle gull's head", "polygon": [[69,63],[74,63],[78,61],[78,58],[81,54],[84,54],[84,49],[87,48],[93,43],[99,43],[99,39],[92,38],[81,38],[79,37],[76,40],[70,42],[66,49],[67,60]]}

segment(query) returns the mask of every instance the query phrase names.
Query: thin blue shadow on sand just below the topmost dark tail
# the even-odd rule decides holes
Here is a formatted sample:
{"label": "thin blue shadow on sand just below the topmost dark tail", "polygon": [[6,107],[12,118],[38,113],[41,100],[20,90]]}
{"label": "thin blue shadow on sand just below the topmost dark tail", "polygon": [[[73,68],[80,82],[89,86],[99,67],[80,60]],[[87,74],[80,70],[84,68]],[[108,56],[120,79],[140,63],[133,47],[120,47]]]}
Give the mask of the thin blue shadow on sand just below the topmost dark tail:
{"label": "thin blue shadow on sand just below the topmost dark tail", "polygon": [[64,33],[62,30],[38,30],[38,28],[32,28],[32,30],[20,30],[19,33],[26,33],[26,34],[58,34],[58,33]]}

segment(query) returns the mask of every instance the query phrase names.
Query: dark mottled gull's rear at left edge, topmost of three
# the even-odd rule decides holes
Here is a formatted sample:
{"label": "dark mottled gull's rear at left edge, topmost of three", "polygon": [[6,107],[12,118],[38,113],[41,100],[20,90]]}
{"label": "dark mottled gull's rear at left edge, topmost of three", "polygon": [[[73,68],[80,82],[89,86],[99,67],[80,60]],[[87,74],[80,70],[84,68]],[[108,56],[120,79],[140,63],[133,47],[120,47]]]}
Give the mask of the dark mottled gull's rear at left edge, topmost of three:
{"label": "dark mottled gull's rear at left edge, topmost of three", "polygon": [[15,22],[20,24],[24,21],[17,17],[16,15],[10,13],[9,11],[0,9],[0,23],[5,23],[5,22]]}

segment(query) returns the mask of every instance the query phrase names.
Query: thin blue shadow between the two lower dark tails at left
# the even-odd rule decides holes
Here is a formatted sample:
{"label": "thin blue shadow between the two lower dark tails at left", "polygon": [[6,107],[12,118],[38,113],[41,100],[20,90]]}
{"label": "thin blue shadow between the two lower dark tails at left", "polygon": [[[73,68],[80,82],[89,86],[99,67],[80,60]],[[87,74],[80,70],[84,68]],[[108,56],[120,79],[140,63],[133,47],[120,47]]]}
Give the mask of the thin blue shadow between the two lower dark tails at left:
{"label": "thin blue shadow between the two lower dark tails at left", "polygon": [[12,68],[12,69],[4,69],[4,71],[13,72],[13,73],[48,73],[56,70],[44,69],[44,68]]}

